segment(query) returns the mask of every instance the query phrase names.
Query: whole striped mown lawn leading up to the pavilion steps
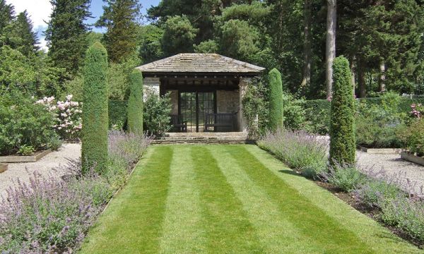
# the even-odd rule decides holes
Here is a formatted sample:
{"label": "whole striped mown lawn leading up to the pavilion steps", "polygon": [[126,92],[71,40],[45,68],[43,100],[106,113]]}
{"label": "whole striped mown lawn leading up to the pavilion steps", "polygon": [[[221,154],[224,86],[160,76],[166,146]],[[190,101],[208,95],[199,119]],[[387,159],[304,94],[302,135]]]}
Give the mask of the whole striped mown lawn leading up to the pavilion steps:
{"label": "whole striped mown lawn leading up to the pavilion steps", "polygon": [[158,145],[81,253],[421,253],[254,145]]}

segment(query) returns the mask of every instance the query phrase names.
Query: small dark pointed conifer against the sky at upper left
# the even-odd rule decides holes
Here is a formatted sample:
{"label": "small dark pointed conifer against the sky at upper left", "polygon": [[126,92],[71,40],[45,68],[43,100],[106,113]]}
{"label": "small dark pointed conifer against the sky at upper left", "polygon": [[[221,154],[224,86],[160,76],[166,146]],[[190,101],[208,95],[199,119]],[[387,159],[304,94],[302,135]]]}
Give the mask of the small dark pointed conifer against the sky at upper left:
{"label": "small dark pointed conifer against the sky at upper left", "polygon": [[13,24],[13,32],[18,37],[16,49],[24,56],[30,56],[37,52],[37,35],[33,31],[33,22],[28,17],[28,12],[25,10],[18,14],[16,21]]}

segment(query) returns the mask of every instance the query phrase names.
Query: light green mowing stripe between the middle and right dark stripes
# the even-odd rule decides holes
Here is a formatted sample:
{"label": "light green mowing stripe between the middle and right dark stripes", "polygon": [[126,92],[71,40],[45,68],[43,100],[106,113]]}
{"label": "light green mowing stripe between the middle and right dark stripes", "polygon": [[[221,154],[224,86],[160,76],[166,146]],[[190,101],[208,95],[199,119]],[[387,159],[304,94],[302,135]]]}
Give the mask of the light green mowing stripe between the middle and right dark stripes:
{"label": "light green mowing stripe between the middle and right dark stripes", "polygon": [[267,253],[324,253],[314,243],[314,238],[305,236],[280,211],[280,207],[269,198],[266,191],[249,179],[246,172],[223,147],[208,147],[218,166],[232,185],[237,197],[242,200],[245,211],[254,225],[259,241]]}

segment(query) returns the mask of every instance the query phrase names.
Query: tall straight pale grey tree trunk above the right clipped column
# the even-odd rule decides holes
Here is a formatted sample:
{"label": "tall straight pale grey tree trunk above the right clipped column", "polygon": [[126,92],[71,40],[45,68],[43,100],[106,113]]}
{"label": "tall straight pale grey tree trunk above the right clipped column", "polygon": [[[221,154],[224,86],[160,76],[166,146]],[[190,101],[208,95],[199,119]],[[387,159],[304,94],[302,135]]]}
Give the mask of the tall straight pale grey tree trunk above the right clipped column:
{"label": "tall straight pale grey tree trunk above the right clipped column", "polygon": [[336,57],[336,0],[327,0],[326,20],[326,94],[331,97],[333,61]]}

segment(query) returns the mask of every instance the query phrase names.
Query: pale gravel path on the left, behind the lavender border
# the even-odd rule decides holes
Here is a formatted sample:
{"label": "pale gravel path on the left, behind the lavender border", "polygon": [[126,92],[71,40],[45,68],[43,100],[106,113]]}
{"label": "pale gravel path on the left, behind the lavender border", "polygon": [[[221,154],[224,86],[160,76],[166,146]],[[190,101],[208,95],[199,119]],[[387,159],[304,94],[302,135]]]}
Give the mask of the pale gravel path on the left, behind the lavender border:
{"label": "pale gravel path on the left, behind the lavender border", "polygon": [[49,176],[49,174],[63,176],[66,172],[60,167],[68,164],[68,159],[79,157],[81,157],[80,144],[64,144],[59,151],[49,153],[38,162],[8,164],[8,170],[0,174],[0,196],[4,195],[6,189],[17,179],[29,181],[35,171],[42,176]]}

